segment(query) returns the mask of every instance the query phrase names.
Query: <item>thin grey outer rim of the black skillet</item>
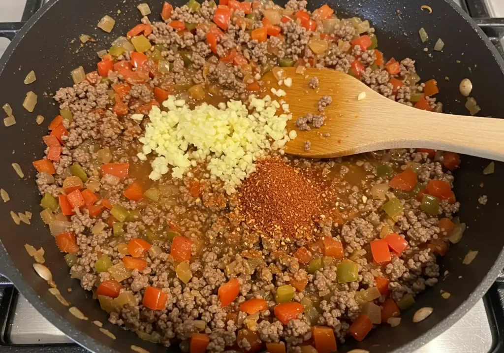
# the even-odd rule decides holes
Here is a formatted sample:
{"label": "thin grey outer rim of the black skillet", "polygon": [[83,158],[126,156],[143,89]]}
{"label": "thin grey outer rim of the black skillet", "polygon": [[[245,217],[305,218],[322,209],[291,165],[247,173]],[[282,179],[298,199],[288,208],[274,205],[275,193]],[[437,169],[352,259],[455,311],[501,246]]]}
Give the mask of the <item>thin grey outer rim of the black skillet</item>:
{"label": "thin grey outer rim of the black skillet", "polygon": [[[14,39],[11,41],[6,51],[4,52],[4,55],[0,58],[0,76],[2,75],[12,53],[19,45],[25,34],[58,1],[60,0],[49,0],[47,4],[42,6],[42,8],[25,23],[19,33],[14,37]],[[481,28],[478,27],[473,19],[465,11],[463,11],[462,8],[458,7],[452,0],[444,0],[444,2],[448,3],[448,5],[455,11],[455,13],[460,15],[468,23],[468,25],[470,25],[476,31],[480,39],[484,42],[485,46],[492,53],[494,60],[497,62],[497,65],[499,66],[501,72],[504,74],[504,59],[498,54],[497,49],[495,49],[486,34],[481,30]],[[455,16],[455,14],[453,16]],[[2,265],[0,267],[4,269],[2,270],[3,275],[8,277],[13,282],[19,292],[41,315],[43,315],[61,332],[65,333],[65,335],[67,335],[70,339],[72,339],[74,342],[84,347],[85,349],[93,352],[111,351],[119,353],[119,351],[111,348],[109,345],[101,343],[100,341],[87,335],[84,331],[76,329],[73,325],[69,325],[68,320],[56,313],[45,301],[41,300],[35,290],[23,279],[21,272],[13,265],[13,262],[10,260],[10,256],[1,239],[0,245],[0,265]],[[445,332],[448,328],[450,328],[453,324],[460,320],[462,316],[464,316],[469,311],[469,309],[471,309],[481,298],[483,298],[490,286],[495,282],[495,279],[497,278],[497,275],[502,270],[502,268],[504,268],[504,249],[500,251],[500,254],[494,262],[493,266],[482,278],[476,289],[471,292],[469,297],[460,306],[458,306],[457,309],[453,311],[453,313],[439,321],[436,325],[432,326],[424,334],[391,351],[391,353],[414,351],[415,349],[420,348],[427,342],[437,337],[439,334]],[[63,349],[67,349],[68,344],[59,345],[59,347],[64,347]],[[55,348],[58,349],[57,346]]]}

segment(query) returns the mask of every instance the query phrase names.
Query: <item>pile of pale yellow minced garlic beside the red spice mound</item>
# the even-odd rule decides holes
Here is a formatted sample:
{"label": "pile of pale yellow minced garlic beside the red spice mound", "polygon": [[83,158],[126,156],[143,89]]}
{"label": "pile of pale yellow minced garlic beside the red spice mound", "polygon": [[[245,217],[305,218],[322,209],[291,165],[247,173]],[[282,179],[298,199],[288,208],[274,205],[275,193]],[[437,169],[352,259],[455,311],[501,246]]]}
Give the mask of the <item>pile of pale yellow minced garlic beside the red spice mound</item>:
{"label": "pile of pale yellow minced garlic beside the red spice mound", "polygon": [[[168,111],[153,106],[145,136],[139,141],[147,154],[156,152],[149,178],[158,180],[170,170],[173,178],[198,163],[207,162],[211,178],[224,182],[228,193],[234,193],[247,175],[255,171],[255,161],[267,150],[281,148],[296,137],[288,134],[287,121],[292,115],[276,115],[280,104],[270,96],[250,98],[249,109],[231,100],[219,107],[203,103],[193,110],[183,99],[169,96],[163,102]],[[283,106],[284,111],[288,107]]]}

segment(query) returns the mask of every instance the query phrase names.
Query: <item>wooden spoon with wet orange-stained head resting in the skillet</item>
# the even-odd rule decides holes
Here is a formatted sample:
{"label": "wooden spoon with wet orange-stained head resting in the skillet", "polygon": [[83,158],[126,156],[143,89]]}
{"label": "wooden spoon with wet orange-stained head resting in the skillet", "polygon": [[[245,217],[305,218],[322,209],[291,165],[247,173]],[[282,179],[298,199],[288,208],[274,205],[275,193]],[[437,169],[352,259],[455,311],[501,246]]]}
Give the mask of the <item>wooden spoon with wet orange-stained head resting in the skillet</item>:
{"label": "wooden spoon with wet orange-stained head resting in the skillet", "polygon": [[[284,68],[292,79],[291,87],[279,86],[268,73],[263,80],[269,86],[284,90],[292,120],[287,130],[296,130],[297,138],[288,142],[285,152],[302,157],[332,158],[389,148],[431,148],[504,160],[504,120],[429,112],[394,102],[373,91],[364,83],[342,72],[329,69]],[[311,78],[319,78],[319,87],[308,86]],[[359,94],[365,98],[358,100]],[[323,112],[318,102],[331,96],[332,104]],[[299,131],[295,121],[306,113],[326,116],[320,129]],[[328,135],[329,134],[329,135]],[[325,137],[326,136],[326,137]],[[311,142],[308,151],[305,141]]]}

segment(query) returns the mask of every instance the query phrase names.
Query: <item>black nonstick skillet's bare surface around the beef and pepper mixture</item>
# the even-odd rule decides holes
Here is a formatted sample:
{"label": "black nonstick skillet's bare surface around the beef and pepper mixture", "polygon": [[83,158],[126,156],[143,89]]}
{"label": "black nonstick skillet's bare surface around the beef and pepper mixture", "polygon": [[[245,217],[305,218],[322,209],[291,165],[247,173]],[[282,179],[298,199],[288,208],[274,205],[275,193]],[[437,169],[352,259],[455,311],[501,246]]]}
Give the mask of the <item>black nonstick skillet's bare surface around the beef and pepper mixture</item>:
{"label": "black nonstick skillet's bare surface around the beef and pepper mixture", "polygon": [[[53,100],[44,98],[43,93],[70,86],[70,71],[81,65],[86,72],[96,70],[96,51],[109,47],[113,39],[139,22],[138,3],[133,0],[51,0],[26,23],[0,60],[0,105],[10,103],[17,120],[14,127],[0,128],[0,149],[3,151],[0,154],[0,165],[3,167],[0,185],[11,196],[11,201],[0,205],[3,228],[0,232],[0,269],[47,320],[80,345],[95,352],[130,351],[132,344],[149,351],[166,351],[166,348],[142,341],[135,333],[109,324],[107,314],[92,299],[91,293],[82,290],[78,281],[70,278],[53,237],[37,216],[40,195],[31,162],[41,157],[41,137],[57,112]],[[171,2],[173,6],[184,3],[181,0]],[[483,32],[451,0],[313,0],[308,7],[313,10],[325,3],[334,8],[339,17],[369,19],[376,29],[379,48],[387,56],[417,60],[416,68],[422,80],[437,80],[440,88],[437,98],[444,103],[445,112],[468,113],[463,104],[465,99],[458,91],[459,82],[468,77],[474,86],[472,95],[482,107],[480,115],[503,115],[504,100],[498,88],[504,84],[504,62]],[[149,5],[152,10],[150,19],[159,20],[162,1],[151,0]],[[422,5],[429,5],[432,14],[421,11]],[[119,9],[120,15],[117,14]],[[106,14],[116,19],[110,34],[96,28],[99,19]],[[424,44],[418,35],[421,27],[430,37]],[[96,34],[98,41],[76,52],[81,34]],[[446,43],[442,52],[432,51],[437,38]],[[74,39],[77,43],[72,43]],[[426,46],[429,47],[428,52],[423,50]],[[35,71],[37,81],[28,88],[23,79],[31,70]],[[449,81],[445,77],[449,77]],[[21,106],[28,90],[35,91],[39,96],[33,113],[28,113]],[[38,114],[45,116],[42,126],[35,123]],[[21,180],[11,168],[13,162],[21,165],[24,179]],[[483,175],[482,170],[488,162],[462,156],[462,165],[456,172],[455,192],[462,204],[458,215],[467,223],[468,229],[462,241],[438,260],[440,272],[448,270],[449,275],[441,278],[437,286],[422,293],[415,307],[402,313],[402,322],[398,327],[382,325],[363,342],[357,344],[348,339],[347,343],[338,347],[339,351],[357,347],[372,353],[413,351],[454,324],[484,295],[499,270],[504,268],[504,237],[499,219],[504,206],[503,202],[499,202],[504,197],[499,179],[503,164],[496,163],[494,174]],[[484,182],[483,188],[479,186],[481,182]],[[485,206],[477,202],[483,194],[489,196]],[[32,225],[16,225],[9,215],[11,210],[33,212]],[[89,321],[78,320],[50,295],[46,282],[32,268],[33,260],[23,247],[26,243],[45,249],[46,265],[51,269],[58,287],[74,289],[71,293],[65,291],[65,298],[79,307],[90,318]],[[469,250],[478,250],[479,254],[473,263],[466,266],[462,264],[462,259]],[[439,289],[450,292],[450,300],[442,299]],[[427,320],[413,324],[412,316],[421,307],[433,307],[434,312]],[[93,320],[103,322],[117,339],[112,340],[99,332],[91,323]],[[61,348],[65,351],[83,350],[78,346]],[[177,351],[178,345],[169,350]]]}

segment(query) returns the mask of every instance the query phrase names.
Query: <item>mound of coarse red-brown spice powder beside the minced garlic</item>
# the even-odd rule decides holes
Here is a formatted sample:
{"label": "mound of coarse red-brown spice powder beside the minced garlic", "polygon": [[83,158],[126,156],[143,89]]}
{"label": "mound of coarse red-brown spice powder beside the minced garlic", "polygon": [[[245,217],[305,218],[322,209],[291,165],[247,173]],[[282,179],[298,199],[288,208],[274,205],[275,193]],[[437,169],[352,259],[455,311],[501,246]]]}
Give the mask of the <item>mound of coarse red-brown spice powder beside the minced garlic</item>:
{"label": "mound of coarse red-brown spice powder beside the minced garlic", "polygon": [[263,238],[291,243],[313,237],[321,189],[279,158],[265,158],[242,185],[239,212]]}

